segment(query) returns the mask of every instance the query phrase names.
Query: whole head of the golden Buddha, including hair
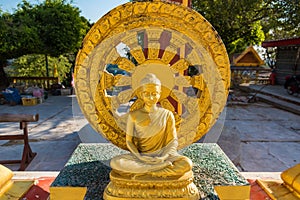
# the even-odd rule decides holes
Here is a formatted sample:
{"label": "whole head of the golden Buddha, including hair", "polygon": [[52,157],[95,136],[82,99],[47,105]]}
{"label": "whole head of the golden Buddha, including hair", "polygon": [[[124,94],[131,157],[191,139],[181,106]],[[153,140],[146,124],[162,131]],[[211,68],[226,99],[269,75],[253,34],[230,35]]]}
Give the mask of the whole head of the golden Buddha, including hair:
{"label": "whole head of the golden Buddha, including hair", "polygon": [[154,74],[147,74],[141,80],[141,97],[146,105],[155,105],[161,93],[161,82]]}

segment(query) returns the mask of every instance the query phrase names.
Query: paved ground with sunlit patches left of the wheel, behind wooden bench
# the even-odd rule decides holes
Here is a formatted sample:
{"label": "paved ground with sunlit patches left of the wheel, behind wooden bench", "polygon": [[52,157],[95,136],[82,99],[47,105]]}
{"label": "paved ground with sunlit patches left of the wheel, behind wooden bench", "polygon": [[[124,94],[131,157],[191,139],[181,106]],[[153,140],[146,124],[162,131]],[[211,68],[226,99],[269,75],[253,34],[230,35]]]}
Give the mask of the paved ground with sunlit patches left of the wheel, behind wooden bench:
{"label": "paved ground with sunlit patches left of the wheel, behind wooden bench", "polygon": [[[37,156],[27,167],[29,171],[57,171],[64,167],[80,143],[78,130],[83,124],[75,121],[72,100],[75,96],[49,96],[35,106],[0,105],[1,113],[40,115],[38,122],[29,123],[29,142]],[[0,134],[20,133],[18,123],[0,123]],[[22,141],[0,141],[0,160],[21,159]],[[12,170],[18,165],[10,165]]]}

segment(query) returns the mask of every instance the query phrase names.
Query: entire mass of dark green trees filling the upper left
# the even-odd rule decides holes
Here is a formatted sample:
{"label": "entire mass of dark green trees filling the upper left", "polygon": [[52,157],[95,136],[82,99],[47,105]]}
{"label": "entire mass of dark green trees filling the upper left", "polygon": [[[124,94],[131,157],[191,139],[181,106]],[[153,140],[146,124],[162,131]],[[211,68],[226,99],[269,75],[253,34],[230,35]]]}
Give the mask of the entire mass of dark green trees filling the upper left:
{"label": "entire mass of dark green trees filling the upper left", "polygon": [[88,20],[65,0],[23,0],[13,14],[0,11],[0,80],[7,59],[27,54],[44,54],[48,76],[48,56],[75,54],[88,29]]}

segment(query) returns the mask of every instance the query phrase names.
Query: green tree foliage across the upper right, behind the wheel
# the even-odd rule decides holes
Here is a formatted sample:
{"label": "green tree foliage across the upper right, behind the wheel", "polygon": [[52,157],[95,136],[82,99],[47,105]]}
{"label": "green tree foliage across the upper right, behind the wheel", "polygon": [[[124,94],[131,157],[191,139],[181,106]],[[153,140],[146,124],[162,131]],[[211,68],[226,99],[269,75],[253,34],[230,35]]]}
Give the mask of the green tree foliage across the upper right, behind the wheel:
{"label": "green tree foliage across the upper right, behind the wheel", "polygon": [[192,7],[217,30],[229,54],[265,39],[300,36],[299,0],[193,0]]}

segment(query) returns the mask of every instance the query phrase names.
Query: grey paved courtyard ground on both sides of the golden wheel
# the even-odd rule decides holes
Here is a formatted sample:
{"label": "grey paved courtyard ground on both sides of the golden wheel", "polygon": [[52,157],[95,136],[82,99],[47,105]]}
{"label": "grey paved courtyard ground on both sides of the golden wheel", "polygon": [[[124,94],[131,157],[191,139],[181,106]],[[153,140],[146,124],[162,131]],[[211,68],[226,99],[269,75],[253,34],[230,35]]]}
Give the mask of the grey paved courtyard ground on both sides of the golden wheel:
{"label": "grey paved courtyard ground on both sides of the golden wheel", "polygon": [[[277,90],[289,97],[281,87]],[[295,97],[295,101],[298,99],[300,102],[300,97]],[[27,171],[61,170],[81,141],[105,142],[83,118],[75,96],[50,96],[44,103],[30,107],[0,105],[0,112],[40,114],[40,120],[30,124],[30,144],[38,155]],[[300,162],[299,122],[299,115],[271,104],[228,104],[202,142],[217,142],[241,171],[278,172]],[[15,131],[17,123],[0,123],[0,134]],[[0,160],[20,158],[21,152],[22,144],[0,141]]]}

